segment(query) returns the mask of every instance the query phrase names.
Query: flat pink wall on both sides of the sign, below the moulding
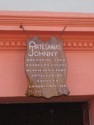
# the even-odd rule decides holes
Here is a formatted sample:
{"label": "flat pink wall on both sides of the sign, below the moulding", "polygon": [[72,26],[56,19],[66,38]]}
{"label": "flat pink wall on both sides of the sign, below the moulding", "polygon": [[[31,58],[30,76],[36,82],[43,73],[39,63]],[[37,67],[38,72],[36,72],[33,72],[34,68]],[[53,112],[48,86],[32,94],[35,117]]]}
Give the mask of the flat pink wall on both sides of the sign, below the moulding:
{"label": "flat pink wall on both sides of the sign, below the moulding", "polygon": [[[25,52],[0,52],[0,97],[25,96]],[[94,94],[94,53],[66,52],[70,95]]]}

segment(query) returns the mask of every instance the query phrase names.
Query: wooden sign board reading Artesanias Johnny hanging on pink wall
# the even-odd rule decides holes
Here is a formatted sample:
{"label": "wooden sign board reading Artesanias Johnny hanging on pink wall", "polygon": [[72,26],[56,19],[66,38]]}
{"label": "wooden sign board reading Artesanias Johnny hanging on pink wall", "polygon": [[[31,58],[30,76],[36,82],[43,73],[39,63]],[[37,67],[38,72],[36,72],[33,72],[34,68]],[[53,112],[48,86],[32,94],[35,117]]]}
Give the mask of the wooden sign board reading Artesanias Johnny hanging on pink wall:
{"label": "wooden sign board reading Artesanias Johnny hanging on pink wall", "polygon": [[51,37],[41,42],[38,37],[27,41],[25,71],[27,96],[46,97],[68,95],[66,85],[67,61],[62,41]]}

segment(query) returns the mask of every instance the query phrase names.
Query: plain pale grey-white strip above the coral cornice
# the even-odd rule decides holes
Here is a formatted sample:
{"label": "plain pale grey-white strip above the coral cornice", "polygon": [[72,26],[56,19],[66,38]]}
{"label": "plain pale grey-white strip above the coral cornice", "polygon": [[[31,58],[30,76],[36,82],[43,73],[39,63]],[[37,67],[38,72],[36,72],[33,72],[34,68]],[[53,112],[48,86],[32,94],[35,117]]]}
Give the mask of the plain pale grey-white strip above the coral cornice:
{"label": "plain pale grey-white strip above the coral cornice", "polygon": [[0,0],[0,10],[94,13],[94,0]]}

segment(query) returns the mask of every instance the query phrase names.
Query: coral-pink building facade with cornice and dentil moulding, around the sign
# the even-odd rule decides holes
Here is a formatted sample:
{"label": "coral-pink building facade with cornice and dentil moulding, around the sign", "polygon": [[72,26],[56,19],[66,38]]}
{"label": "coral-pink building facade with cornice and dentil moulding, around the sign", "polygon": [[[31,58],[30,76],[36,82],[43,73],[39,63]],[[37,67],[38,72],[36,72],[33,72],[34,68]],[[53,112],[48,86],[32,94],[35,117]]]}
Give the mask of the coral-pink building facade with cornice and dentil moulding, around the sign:
{"label": "coral-pink building facade with cornice and dentil moulding, around the sign", "polygon": [[[26,41],[36,35],[44,42],[51,36],[63,41],[68,61],[69,96],[26,97]],[[94,125],[93,69],[94,14],[0,12],[0,103],[86,103],[88,110],[83,108],[83,125]]]}

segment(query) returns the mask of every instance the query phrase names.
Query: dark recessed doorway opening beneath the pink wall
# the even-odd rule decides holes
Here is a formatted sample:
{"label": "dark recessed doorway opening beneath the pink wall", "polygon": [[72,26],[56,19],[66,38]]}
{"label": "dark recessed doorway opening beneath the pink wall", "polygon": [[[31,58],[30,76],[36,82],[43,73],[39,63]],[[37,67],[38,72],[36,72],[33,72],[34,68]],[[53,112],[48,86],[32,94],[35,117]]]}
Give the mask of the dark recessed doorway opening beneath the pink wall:
{"label": "dark recessed doorway opening beneath the pink wall", "polygon": [[1,104],[1,125],[84,125],[82,103]]}

